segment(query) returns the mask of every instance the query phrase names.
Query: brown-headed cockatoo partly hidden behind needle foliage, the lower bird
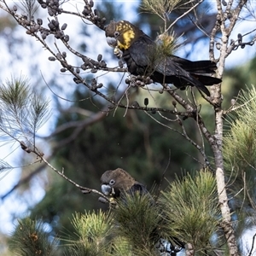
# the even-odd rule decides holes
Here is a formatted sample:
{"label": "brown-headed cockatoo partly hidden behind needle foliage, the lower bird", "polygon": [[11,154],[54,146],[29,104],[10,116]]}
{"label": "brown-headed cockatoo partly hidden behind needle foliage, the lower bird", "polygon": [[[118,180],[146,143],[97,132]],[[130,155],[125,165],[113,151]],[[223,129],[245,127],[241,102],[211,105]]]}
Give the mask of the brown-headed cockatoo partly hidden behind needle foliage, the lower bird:
{"label": "brown-headed cockatoo partly hidden behind needle foliage, the lower bird", "polygon": [[[153,207],[155,204],[153,197],[149,194],[145,186],[142,183],[138,183],[128,172],[125,172],[121,168],[104,172],[101,177],[101,183],[102,193],[114,199],[122,198],[126,194],[134,195],[138,193],[138,195],[148,196],[150,206]],[[160,238],[156,245],[156,249],[159,252],[158,255],[175,256],[183,249],[183,242],[178,241],[176,238],[172,240],[175,241],[176,245],[172,244],[171,241]]]}

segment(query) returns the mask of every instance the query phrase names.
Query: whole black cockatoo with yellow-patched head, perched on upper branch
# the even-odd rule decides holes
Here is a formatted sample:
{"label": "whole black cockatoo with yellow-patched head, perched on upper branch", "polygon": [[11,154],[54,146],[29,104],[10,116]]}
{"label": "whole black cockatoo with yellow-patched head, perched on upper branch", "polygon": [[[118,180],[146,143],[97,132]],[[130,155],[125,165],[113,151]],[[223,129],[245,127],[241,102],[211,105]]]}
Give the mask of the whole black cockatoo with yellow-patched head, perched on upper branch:
{"label": "whole black cockatoo with yellow-patched head, perched on upper branch", "polygon": [[158,44],[129,21],[111,21],[105,32],[114,54],[122,56],[132,75],[150,77],[154,82],[174,84],[180,89],[195,86],[207,96],[210,92],[205,85],[221,82],[210,76],[217,68],[215,62],[189,61],[171,53],[161,53]]}

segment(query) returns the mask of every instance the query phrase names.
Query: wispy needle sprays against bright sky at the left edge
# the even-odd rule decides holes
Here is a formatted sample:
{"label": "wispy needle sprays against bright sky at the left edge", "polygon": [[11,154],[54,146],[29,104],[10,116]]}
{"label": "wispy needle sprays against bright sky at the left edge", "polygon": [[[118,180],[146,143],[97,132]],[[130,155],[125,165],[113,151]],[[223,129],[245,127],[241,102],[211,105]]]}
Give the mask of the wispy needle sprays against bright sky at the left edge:
{"label": "wispy needle sprays against bright sky at the left edge", "polygon": [[0,86],[0,130],[10,139],[35,137],[49,118],[49,101],[32,91],[24,78],[7,80]]}

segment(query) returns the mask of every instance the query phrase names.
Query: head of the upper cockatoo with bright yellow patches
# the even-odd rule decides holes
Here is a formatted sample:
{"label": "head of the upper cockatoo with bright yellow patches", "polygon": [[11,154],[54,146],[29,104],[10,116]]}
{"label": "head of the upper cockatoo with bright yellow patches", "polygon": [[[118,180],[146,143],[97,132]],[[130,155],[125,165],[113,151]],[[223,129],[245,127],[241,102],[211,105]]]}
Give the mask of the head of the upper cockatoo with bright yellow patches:
{"label": "head of the upper cockatoo with bright yellow patches", "polygon": [[124,51],[128,49],[134,40],[143,32],[129,21],[120,20],[117,22],[111,21],[105,28],[105,33],[108,45]]}

